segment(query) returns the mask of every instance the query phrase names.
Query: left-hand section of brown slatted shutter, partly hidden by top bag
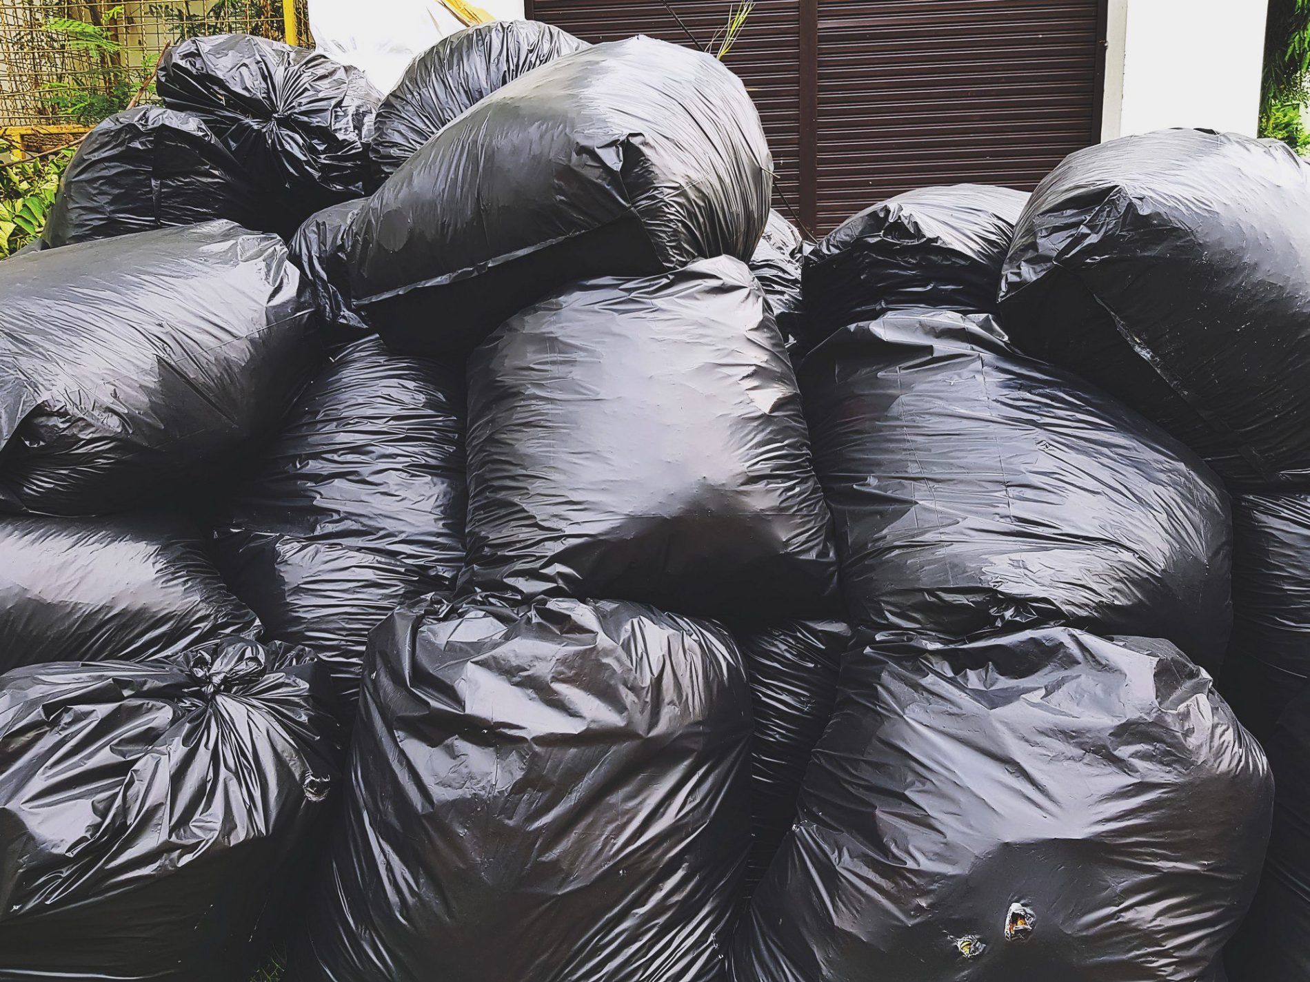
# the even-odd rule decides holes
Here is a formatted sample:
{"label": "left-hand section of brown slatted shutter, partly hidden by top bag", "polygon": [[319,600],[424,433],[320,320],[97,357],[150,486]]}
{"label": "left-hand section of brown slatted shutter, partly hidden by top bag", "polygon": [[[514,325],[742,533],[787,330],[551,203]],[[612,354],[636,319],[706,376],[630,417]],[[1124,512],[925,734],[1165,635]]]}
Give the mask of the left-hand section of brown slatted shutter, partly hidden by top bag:
{"label": "left-hand section of brown slatted shutter, partly hidden by top bag", "polygon": [[[718,50],[715,35],[728,22],[732,0],[534,0],[528,16],[599,43],[648,34],[688,47]],[[800,174],[800,30],[798,0],[757,0],[745,31],[723,59],[760,109],[777,177],[774,204],[798,208]]]}

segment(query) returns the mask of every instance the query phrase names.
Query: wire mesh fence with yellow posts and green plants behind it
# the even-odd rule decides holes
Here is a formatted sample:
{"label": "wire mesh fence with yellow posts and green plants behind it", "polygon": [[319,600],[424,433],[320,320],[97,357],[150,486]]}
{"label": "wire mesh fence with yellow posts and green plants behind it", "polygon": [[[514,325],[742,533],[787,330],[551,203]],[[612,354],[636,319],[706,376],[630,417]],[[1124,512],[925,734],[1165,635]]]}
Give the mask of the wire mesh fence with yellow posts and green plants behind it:
{"label": "wire mesh fence with yellow posts and green plants behind it", "polygon": [[246,33],[312,46],[308,0],[0,0],[0,139],[46,149],[149,101],[164,50]]}

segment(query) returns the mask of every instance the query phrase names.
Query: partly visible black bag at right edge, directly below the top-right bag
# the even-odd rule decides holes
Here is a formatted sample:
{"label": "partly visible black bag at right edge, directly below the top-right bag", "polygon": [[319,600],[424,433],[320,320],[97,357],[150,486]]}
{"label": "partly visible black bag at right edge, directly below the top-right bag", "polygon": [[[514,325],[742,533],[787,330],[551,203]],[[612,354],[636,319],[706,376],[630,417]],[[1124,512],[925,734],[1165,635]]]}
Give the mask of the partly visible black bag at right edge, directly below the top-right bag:
{"label": "partly visible black bag at right edge, directly below the top-right bag", "polygon": [[1233,640],[1220,690],[1263,741],[1310,685],[1310,495],[1241,495],[1233,533]]}

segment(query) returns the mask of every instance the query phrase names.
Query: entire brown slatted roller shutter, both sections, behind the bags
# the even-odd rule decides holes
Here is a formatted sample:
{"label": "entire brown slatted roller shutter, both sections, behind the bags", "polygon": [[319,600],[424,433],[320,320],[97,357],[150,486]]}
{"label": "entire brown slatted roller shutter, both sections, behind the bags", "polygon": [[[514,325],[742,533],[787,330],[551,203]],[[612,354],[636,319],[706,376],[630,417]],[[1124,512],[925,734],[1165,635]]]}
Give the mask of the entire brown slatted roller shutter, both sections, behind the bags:
{"label": "entire brown slatted roller shutter, both sections, behind the bags", "polygon": [[[774,204],[821,234],[900,191],[1031,189],[1100,130],[1106,0],[758,0],[727,64],[764,119]],[[732,0],[534,0],[587,41],[711,47]],[[694,38],[694,41],[693,41]]]}

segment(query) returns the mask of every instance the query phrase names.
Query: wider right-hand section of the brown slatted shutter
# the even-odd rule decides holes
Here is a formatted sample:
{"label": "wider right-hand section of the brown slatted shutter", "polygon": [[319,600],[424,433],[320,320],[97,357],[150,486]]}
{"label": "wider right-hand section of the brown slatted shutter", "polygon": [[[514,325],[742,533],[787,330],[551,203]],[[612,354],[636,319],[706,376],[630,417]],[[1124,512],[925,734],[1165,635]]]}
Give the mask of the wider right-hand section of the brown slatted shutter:
{"label": "wider right-hand section of the brown slatted shutter", "polygon": [[1031,190],[1100,128],[1100,0],[816,0],[817,225],[893,194]]}

